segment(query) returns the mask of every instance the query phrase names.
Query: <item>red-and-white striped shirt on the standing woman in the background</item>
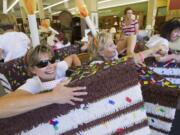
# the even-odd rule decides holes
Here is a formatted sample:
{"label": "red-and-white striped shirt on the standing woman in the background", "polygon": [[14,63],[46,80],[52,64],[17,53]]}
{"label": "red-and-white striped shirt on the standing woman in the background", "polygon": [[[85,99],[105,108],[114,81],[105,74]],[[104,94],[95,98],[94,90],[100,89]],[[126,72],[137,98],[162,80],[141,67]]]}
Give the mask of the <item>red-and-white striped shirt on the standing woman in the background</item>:
{"label": "red-and-white striped shirt on the standing woman in the background", "polygon": [[137,20],[133,20],[130,25],[126,25],[125,21],[122,22],[122,32],[124,35],[129,36],[135,34],[136,25],[138,24]]}

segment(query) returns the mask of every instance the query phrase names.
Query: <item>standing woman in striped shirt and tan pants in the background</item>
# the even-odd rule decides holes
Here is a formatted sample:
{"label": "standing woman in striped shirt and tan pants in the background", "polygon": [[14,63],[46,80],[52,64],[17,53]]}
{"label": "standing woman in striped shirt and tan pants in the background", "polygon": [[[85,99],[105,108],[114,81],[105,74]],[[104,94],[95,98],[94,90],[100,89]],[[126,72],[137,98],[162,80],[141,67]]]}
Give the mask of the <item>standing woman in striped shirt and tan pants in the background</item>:
{"label": "standing woman in striped shirt and tan pants in the background", "polygon": [[124,10],[125,18],[122,21],[122,33],[120,40],[117,43],[119,53],[126,51],[126,55],[132,55],[137,41],[137,34],[139,30],[138,21],[135,19],[132,8],[127,7]]}

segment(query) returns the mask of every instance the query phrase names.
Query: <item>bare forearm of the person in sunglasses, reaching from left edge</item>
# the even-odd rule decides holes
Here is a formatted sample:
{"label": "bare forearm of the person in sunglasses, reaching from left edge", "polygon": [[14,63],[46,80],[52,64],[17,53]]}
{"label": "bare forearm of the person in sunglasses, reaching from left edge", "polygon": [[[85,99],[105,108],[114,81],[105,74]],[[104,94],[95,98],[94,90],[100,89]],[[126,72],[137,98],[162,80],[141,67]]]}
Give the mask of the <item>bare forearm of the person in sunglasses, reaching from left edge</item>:
{"label": "bare forearm of the person in sunglasses, reaching from left edge", "polygon": [[0,98],[0,118],[22,114],[52,103],[51,92],[32,95],[19,90]]}

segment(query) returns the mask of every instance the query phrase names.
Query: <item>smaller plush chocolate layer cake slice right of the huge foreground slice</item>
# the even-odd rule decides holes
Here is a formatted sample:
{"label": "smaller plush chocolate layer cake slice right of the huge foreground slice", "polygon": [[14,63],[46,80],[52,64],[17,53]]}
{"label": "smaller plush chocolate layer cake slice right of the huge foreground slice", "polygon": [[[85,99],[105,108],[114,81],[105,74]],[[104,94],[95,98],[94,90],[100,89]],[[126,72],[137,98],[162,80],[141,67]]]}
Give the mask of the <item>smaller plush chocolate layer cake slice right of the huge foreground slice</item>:
{"label": "smaller plush chocolate layer cake slice right of the huge foreground slice", "polygon": [[168,135],[180,91],[176,85],[146,67],[139,70],[139,76],[151,135]]}

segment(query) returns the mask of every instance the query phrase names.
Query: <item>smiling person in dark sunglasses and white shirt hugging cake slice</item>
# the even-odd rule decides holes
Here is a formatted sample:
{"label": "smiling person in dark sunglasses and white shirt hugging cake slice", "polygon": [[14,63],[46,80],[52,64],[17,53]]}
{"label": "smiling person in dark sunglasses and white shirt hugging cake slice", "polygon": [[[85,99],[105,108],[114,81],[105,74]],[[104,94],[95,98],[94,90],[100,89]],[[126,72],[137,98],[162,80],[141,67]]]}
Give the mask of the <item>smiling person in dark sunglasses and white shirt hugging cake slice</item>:
{"label": "smiling person in dark sunglasses and white shirt hugging cake slice", "polygon": [[[70,55],[56,62],[51,49],[39,45],[27,55],[28,69],[33,77],[15,92],[0,98],[0,118],[11,117],[53,103],[71,104],[82,101],[78,96],[87,95],[86,87],[66,87],[65,71],[71,65],[80,66],[77,55]],[[44,92],[46,90],[52,90]]]}

